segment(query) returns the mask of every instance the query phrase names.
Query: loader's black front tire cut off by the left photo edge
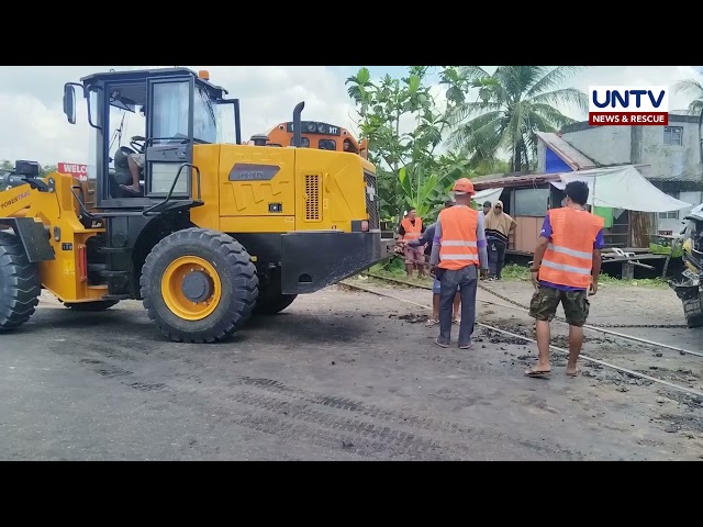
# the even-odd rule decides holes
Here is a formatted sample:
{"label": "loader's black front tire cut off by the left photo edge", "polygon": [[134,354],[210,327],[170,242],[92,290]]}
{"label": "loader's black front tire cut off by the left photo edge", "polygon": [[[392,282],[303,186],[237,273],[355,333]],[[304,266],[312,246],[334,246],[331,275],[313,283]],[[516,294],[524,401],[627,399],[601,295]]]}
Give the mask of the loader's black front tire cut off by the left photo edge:
{"label": "loader's black front tire cut off by the left photo edge", "polygon": [[42,294],[36,264],[20,238],[0,233],[0,332],[16,329],[34,314]]}

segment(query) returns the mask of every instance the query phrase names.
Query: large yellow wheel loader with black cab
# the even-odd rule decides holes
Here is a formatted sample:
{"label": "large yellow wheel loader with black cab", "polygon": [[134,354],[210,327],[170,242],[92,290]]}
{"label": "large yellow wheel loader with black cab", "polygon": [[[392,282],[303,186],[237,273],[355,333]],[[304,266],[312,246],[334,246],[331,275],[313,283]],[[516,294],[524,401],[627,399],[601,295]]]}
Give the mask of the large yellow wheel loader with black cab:
{"label": "large yellow wheel loader with black cab", "polygon": [[[345,152],[242,144],[239,101],[186,68],[68,82],[92,133],[88,179],[19,160],[0,176],[0,330],[42,289],[76,311],[142,300],[176,341],[214,343],[390,256],[376,170]],[[233,143],[224,143],[228,133]],[[129,145],[123,135],[131,137]]]}

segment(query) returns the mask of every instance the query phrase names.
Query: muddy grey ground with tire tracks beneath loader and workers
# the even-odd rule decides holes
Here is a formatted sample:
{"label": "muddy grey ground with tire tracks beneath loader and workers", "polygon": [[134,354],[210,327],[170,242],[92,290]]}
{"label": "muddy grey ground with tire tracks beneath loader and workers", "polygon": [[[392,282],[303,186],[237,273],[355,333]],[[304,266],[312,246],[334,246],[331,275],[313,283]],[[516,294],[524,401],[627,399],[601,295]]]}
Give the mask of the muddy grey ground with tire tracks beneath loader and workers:
{"label": "muddy grey ground with tire tracks beneath loader and workers", "polygon": [[[529,299],[527,283],[490,287]],[[43,296],[29,324],[0,336],[0,459],[703,459],[698,397],[587,362],[570,379],[559,355],[550,379],[527,379],[534,344],[480,328],[470,350],[438,348],[427,314],[334,287],[193,346],[166,341],[137,302],[83,314]],[[592,300],[599,319],[682,322],[670,291],[621,285]],[[532,335],[517,310],[481,302],[479,322]],[[613,330],[703,347],[701,330]],[[587,339],[589,356],[703,390],[703,358]]]}

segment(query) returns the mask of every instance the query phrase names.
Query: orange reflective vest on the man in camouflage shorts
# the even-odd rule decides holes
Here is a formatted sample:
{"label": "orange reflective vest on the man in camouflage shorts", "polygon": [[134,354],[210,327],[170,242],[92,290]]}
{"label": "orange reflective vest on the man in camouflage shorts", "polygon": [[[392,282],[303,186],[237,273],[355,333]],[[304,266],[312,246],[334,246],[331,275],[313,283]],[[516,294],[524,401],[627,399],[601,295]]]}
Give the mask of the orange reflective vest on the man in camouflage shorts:
{"label": "orange reflective vest on the man in camouflage shorts", "polygon": [[539,280],[588,289],[593,269],[593,243],[603,218],[565,206],[549,211],[551,242],[539,268]]}

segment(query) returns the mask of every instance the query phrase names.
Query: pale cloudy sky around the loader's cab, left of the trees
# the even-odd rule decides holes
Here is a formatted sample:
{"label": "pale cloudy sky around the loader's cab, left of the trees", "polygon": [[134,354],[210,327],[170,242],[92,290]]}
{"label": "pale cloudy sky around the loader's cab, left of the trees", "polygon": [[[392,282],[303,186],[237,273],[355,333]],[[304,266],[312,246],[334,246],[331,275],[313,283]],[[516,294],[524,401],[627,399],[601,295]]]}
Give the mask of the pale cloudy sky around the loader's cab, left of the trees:
{"label": "pale cloudy sky around the loader's cab, left of the trees", "polygon": [[[70,125],[63,113],[64,83],[98,71],[148,67],[158,66],[0,67],[0,159],[88,162],[92,145],[85,101],[78,98],[77,124]],[[209,70],[213,83],[241,99],[243,139],[290,121],[303,100],[303,119],[352,126],[354,106],[344,78],[324,66],[187,67]]]}

